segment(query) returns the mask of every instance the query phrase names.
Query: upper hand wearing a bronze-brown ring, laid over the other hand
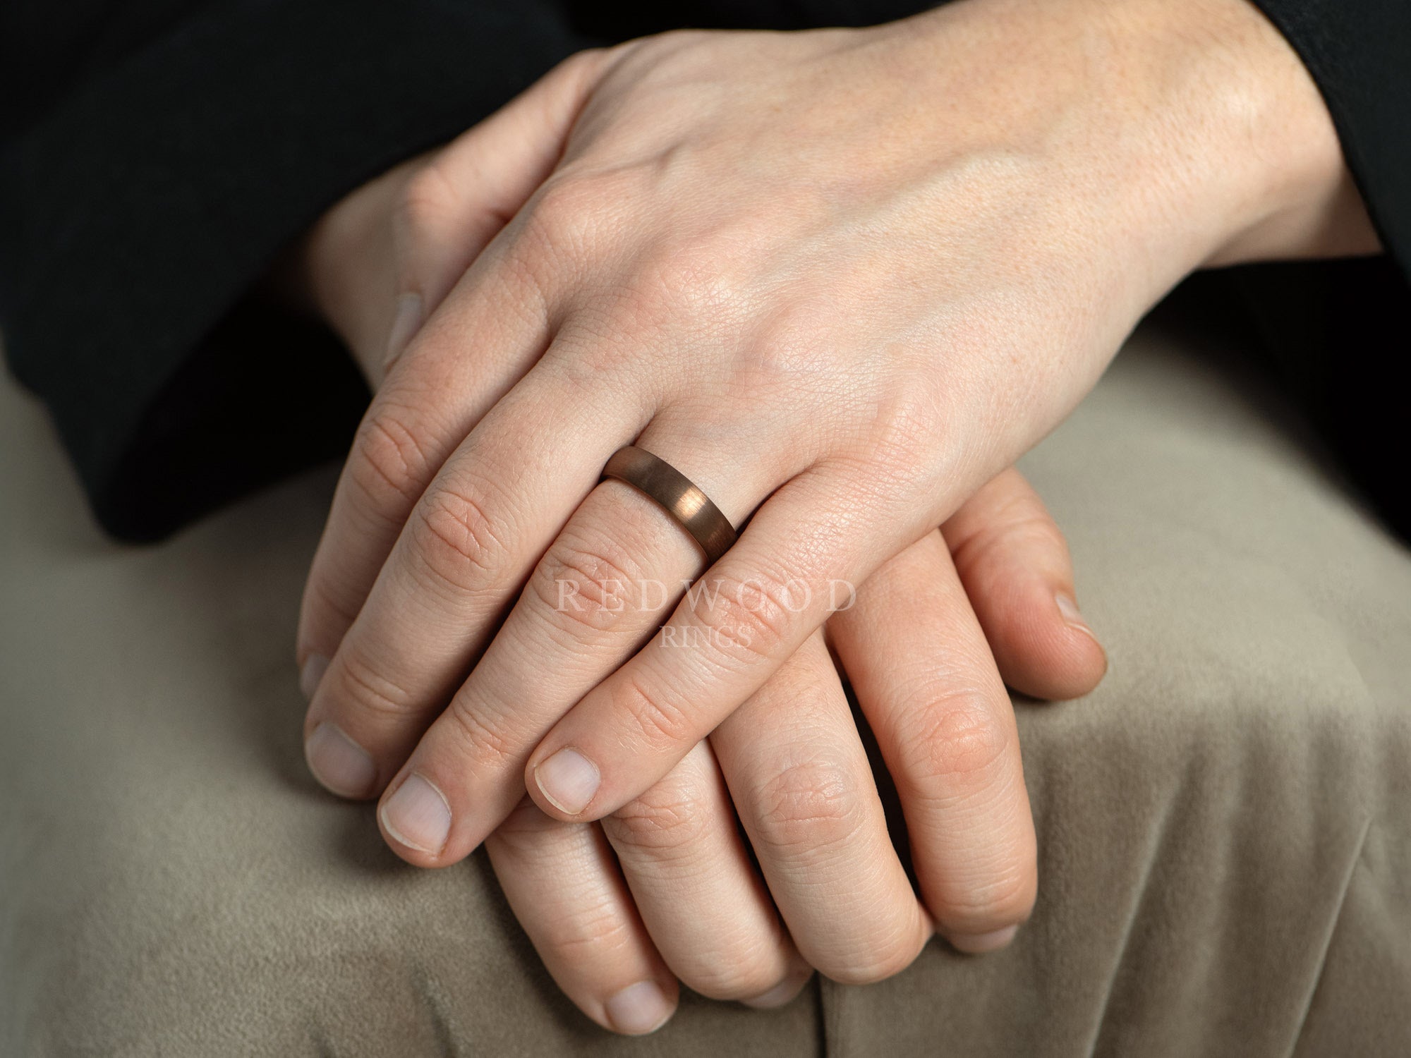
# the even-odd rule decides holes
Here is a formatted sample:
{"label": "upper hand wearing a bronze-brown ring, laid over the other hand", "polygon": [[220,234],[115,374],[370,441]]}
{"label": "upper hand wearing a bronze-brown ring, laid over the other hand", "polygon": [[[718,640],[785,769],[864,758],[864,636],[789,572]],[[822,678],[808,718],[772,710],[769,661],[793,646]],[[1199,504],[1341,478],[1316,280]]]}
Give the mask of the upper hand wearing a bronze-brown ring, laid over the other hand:
{"label": "upper hand wearing a bronze-brown ring, laid over the other hand", "polygon": [[[1316,92],[1242,0],[1199,7],[1198,35],[1156,0],[669,35],[516,104],[545,135],[507,144],[498,182],[563,157],[380,391],[301,632],[315,659],[356,614],[306,731],[361,748],[365,793],[411,753],[381,810],[404,856],[459,859],[525,776],[555,818],[619,808],[804,643],[831,578],[950,516],[1181,275],[1324,248],[1349,185]],[[638,653],[665,616],[641,598],[614,622],[553,605],[566,574],[698,571],[655,508],[594,488],[634,439],[737,522],[768,497],[710,573],[724,604],[672,615],[701,649]]]}

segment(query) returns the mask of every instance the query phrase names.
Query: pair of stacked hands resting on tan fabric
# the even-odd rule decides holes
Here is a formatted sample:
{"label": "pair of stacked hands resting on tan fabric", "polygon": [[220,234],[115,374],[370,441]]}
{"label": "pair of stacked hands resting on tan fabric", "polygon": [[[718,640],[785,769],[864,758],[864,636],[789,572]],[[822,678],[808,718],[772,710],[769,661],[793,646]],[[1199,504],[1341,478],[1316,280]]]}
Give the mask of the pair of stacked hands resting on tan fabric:
{"label": "pair of stacked hands resting on tan fabric", "polygon": [[[305,598],[310,766],[381,796],[412,863],[487,842],[598,1021],[1027,916],[1000,674],[1072,697],[1103,657],[1005,468],[1182,275],[1324,248],[1356,202],[1273,30],[1195,7],[1197,34],[1164,0],[968,0],[586,54],[310,237],[380,382]],[[625,444],[751,519],[710,570],[598,484]]]}

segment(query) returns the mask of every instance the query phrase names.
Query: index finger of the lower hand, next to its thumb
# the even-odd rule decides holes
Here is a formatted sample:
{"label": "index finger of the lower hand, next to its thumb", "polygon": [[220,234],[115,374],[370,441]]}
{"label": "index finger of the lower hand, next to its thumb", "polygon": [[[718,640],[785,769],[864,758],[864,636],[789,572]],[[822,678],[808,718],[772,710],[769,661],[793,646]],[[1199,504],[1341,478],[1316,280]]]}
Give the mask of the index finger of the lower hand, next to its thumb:
{"label": "index finger of the lower hand, next to its thumb", "polygon": [[1015,712],[940,533],[882,566],[832,625],[926,906],[958,948],[1007,944],[1034,903],[1034,825]]}

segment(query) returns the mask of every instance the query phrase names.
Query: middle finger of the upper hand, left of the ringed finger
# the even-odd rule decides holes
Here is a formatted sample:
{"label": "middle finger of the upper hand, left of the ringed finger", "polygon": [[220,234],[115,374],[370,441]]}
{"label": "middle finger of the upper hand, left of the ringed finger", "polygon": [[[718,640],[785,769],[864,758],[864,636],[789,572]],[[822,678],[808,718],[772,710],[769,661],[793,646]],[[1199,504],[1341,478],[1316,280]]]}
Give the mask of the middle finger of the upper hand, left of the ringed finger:
{"label": "middle finger of the upper hand, left of the ringed finger", "polygon": [[[635,432],[631,420],[624,426],[601,409],[629,405],[626,387],[607,377],[570,385],[552,365],[539,365],[447,460],[408,516],[309,704],[310,766],[325,784],[370,796],[406,760],[539,554]],[[317,752],[330,738],[364,765],[360,789],[334,786],[322,770]],[[518,800],[505,787],[477,842]],[[435,801],[418,813],[428,807]]]}

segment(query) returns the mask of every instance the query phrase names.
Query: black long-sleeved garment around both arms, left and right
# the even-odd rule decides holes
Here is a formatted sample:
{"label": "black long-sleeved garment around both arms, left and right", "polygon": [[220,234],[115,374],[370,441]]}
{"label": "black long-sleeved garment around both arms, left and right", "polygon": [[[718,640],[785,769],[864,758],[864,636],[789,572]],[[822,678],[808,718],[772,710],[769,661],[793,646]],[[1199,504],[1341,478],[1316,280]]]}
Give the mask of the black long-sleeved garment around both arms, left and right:
{"label": "black long-sleeved garment around both arms, left and right", "polygon": [[[1256,3],[1318,80],[1379,230],[1407,264],[1411,4]],[[673,25],[862,25],[926,6],[11,0],[0,7],[7,358],[48,403],[102,525],[159,537],[346,450],[367,399],[351,363],[326,333],[250,295],[343,193],[590,42]],[[1302,351],[1276,363],[1302,378],[1339,451],[1367,460],[1388,443],[1404,449],[1356,398],[1411,347],[1411,305],[1384,261],[1350,268],[1240,282],[1259,319],[1316,316],[1294,327]],[[1266,333],[1287,346],[1288,330]],[[1312,351],[1311,337],[1322,343]],[[1298,367],[1309,357],[1324,364],[1312,375]],[[1362,480],[1379,478],[1363,464]],[[1398,518],[1394,497],[1374,495]]]}

